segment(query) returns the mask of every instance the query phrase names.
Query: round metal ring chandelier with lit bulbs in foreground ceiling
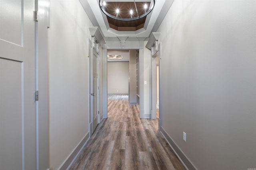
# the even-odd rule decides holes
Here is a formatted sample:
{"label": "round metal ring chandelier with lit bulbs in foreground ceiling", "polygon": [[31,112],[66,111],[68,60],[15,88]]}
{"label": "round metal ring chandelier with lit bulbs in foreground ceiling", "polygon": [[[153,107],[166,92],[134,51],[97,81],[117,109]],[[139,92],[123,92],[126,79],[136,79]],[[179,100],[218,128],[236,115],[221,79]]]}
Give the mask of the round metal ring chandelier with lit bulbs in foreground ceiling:
{"label": "round metal ring chandelier with lit bulbs in foreground ceiling", "polygon": [[[149,2],[150,2],[150,5],[148,5]],[[155,0],[151,0],[151,1],[145,0],[144,6],[139,7],[139,8],[142,8],[142,11],[144,13],[143,12],[141,13],[140,9],[138,10],[136,2],[134,0],[134,7],[133,7],[133,9],[135,9],[136,13],[137,13],[137,16],[134,17],[134,18],[133,18],[133,15],[132,15],[132,11],[133,10],[130,10],[130,18],[122,18],[120,15],[119,15],[120,17],[118,17],[118,14],[120,13],[120,11],[118,9],[116,10],[116,12],[108,11],[108,9],[107,9],[107,6],[108,6],[107,0],[99,0],[99,6],[100,6],[100,9],[102,10],[102,12],[104,14],[106,14],[106,16],[109,16],[110,18],[113,18],[115,20],[120,20],[120,21],[134,21],[134,20],[138,20],[140,18],[143,18],[143,17],[147,16],[150,12],[152,12],[152,10],[153,10],[153,8],[155,6]],[[144,10],[143,10],[143,8],[144,8]],[[122,12],[124,12],[124,11],[122,11]],[[127,13],[128,12],[129,12],[129,10],[127,9]],[[114,16],[113,13],[116,13],[116,16]]]}

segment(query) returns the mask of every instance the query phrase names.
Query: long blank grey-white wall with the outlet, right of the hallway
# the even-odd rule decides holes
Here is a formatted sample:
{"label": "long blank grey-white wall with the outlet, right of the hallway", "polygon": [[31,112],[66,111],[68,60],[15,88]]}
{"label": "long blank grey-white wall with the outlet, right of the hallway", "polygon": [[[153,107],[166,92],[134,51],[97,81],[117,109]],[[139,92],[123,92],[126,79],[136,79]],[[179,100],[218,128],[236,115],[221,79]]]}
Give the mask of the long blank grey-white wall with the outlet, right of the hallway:
{"label": "long blank grey-white wall with the outlet, right of the hallway", "polygon": [[175,0],[157,31],[162,127],[199,170],[256,168],[255,3]]}

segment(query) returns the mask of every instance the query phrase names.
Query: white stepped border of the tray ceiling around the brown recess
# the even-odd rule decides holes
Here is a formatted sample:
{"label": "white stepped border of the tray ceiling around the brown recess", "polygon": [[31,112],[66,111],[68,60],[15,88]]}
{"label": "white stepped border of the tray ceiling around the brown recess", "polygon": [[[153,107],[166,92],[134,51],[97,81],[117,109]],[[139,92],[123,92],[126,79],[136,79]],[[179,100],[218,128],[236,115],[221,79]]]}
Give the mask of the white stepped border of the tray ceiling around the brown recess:
{"label": "white stepped border of the tray ceiling around the brown recess", "polygon": [[[115,0],[111,0],[115,1]],[[134,0],[120,0],[134,1]],[[145,0],[136,0],[145,1]],[[149,0],[150,1],[150,0]],[[99,0],[80,0],[93,25],[99,27],[105,41],[119,41],[118,36],[127,36],[126,41],[144,41],[156,32],[174,0],[155,0],[153,11],[147,16],[144,28],[137,31],[117,31],[108,25],[106,15],[100,10]]]}

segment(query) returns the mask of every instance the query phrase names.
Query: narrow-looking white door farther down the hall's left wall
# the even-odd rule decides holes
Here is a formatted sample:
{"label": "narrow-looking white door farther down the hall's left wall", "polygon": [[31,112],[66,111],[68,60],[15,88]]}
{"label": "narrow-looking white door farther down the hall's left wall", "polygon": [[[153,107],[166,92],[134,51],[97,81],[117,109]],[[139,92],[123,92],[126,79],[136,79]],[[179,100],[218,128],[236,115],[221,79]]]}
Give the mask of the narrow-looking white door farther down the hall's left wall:
{"label": "narrow-looking white door farther down the hall's left wall", "polygon": [[94,132],[98,125],[98,53],[96,49],[92,47],[92,55],[91,57],[91,117],[92,117],[92,125],[91,125],[91,133]]}

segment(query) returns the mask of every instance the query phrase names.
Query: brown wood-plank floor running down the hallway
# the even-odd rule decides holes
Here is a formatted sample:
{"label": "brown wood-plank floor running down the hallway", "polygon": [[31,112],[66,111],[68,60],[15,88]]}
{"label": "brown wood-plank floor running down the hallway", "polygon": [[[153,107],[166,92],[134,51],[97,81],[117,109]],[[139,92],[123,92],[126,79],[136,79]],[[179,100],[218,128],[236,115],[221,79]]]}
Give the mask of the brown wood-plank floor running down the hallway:
{"label": "brown wood-plank floor running down the hallway", "polygon": [[140,119],[128,96],[108,96],[108,119],[96,128],[70,170],[185,170],[158,119]]}

